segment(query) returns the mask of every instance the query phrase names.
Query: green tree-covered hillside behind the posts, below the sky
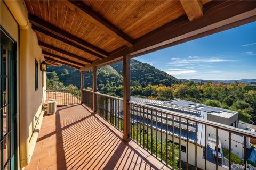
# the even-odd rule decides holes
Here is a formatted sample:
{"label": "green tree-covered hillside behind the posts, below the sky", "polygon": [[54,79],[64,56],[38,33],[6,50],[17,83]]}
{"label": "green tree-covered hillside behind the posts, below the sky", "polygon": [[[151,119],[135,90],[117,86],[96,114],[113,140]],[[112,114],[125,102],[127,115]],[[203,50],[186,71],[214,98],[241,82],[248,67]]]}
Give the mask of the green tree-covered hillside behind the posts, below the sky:
{"label": "green tree-covered hillside behind the posts, below the sky", "polygon": [[[73,69],[66,65],[61,67],[49,66],[47,72],[55,71],[59,77],[60,82],[63,82],[65,86],[73,84],[74,86],[80,86],[80,72],[77,69]],[[85,73],[84,77],[85,87],[92,86],[92,73]],[[115,63],[107,66],[103,66],[97,71],[98,87],[102,88],[107,85],[119,86],[123,84],[123,63]],[[148,84],[158,85],[163,84],[165,86],[171,86],[171,84],[180,83],[180,80],[175,77],[160,71],[155,67],[139,62],[138,60],[131,60],[131,85],[146,87]]]}

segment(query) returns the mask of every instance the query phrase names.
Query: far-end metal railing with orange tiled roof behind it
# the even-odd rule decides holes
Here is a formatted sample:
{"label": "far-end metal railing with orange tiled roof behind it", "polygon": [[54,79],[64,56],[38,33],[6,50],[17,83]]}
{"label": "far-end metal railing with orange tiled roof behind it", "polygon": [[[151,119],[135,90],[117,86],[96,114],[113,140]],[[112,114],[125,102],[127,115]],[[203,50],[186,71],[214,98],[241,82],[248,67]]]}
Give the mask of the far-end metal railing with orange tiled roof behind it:
{"label": "far-end metal railing with orange tiled roof behind it", "polygon": [[72,90],[45,90],[45,106],[49,100],[56,100],[58,106],[66,106],[81,103],[81,89]]}

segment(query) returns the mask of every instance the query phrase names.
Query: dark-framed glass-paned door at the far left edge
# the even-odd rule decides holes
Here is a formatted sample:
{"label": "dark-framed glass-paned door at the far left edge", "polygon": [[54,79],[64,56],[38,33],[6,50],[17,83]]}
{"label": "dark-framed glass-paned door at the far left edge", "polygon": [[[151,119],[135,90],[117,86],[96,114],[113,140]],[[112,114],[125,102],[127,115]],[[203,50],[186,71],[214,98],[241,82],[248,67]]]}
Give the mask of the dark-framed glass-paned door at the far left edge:
{"label": "dark-framed glass-paned door at the far left edge", "polygon": [[1,27],[0,169],[16,169],[16,43]]}

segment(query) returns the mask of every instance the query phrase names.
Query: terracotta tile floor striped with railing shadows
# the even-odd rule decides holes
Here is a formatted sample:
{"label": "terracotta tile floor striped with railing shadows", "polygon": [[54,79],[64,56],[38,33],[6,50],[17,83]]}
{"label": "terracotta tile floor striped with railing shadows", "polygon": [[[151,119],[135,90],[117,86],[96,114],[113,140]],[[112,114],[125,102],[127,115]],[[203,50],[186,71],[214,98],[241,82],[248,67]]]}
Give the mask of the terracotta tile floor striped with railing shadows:
{"label": "terracotta tile floor striped with railing shadows", "polygon": [[83,105],[44,116],[26,169],[167,169],[135,142]]}

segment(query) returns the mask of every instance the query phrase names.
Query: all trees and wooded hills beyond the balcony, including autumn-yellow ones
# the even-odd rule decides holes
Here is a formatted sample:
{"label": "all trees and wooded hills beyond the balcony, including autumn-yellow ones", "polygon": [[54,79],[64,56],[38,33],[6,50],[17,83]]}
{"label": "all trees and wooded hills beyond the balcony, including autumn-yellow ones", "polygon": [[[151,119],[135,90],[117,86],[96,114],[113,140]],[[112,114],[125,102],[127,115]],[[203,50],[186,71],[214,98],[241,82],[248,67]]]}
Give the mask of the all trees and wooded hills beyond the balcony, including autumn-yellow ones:
{"label": "all trees and wooded hills beyond the balcony, including autumn-yellow ones", "polygon": [[[64,89],[73,84],[80,87],[80,72],[68,66],[52,67],[47,71],[47,89]],[[111,96],[123,96],[123,64],[115,63],[97,70],[98,91]],[[85,88],[92,87],[92,72],[84,74]],[[182,100],[231,109],[239,119],[256,124],[256,86],[233,82],[194,83],[178,80],[155,67],[131,60],[131,95],[155,100]]]}

